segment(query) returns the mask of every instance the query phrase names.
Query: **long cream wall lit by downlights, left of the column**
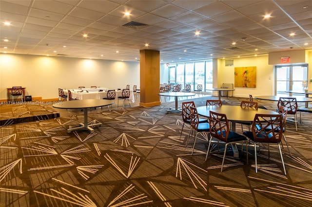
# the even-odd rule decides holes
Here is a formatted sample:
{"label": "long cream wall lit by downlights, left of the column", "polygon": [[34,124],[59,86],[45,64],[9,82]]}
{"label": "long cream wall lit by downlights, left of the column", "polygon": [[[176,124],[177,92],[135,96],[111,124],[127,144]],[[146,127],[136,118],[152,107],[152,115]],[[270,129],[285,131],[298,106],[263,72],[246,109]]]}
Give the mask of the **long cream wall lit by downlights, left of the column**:
{"label": "long cream wall lit by downlights, left of the column", "polygon": [[0,100],[12,86],[26,87],[26,95],[42,99],[58,98],[58,88],[140,88],[139,67],[139,62],[0,54]]}

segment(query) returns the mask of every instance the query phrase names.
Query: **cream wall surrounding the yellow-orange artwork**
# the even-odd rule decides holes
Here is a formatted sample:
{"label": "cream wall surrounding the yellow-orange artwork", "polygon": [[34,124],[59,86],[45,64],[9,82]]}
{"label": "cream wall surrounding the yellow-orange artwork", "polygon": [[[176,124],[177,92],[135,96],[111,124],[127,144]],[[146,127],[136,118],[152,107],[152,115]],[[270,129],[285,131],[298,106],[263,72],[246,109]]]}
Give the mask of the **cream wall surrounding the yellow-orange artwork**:
{"label": "cream wall surrounding the yellow-orange artwork", "polygon": [[274,95],[273,82],[273,66],[268,65],[268,55],[256,56],[256,57],[241,57],[234,58],[234,66],[225,66],[225,60],[218,61],[217,69],[217,87],[220,87],[222,83],[234,84],[234,68],[236,67],[256,67],[256,87],[235,87],[233,91],[234,97],[249,97],[249,94],[253,96],[262,95]]}

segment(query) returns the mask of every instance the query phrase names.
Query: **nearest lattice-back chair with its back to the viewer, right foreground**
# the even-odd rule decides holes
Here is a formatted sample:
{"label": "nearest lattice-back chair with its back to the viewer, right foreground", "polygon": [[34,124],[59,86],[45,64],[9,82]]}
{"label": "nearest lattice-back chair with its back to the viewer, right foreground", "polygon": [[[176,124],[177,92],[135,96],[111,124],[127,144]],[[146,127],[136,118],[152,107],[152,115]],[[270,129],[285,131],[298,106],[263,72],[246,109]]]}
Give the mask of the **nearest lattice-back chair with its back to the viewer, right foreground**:
{"label": "nearest lattice-back chair with its back to the viewer, right foreground", "polygon": [[252,131],[245,131],[243,134],[254,141],[255,172],[257,169],[256,143],[268,143],[268,157],[270,158],[270,144],[277,144],[281,156],[284,173],[286,169],[281,151],[280,142],[283,136],[283,121],[281,114],[256,114],[252,124]]}

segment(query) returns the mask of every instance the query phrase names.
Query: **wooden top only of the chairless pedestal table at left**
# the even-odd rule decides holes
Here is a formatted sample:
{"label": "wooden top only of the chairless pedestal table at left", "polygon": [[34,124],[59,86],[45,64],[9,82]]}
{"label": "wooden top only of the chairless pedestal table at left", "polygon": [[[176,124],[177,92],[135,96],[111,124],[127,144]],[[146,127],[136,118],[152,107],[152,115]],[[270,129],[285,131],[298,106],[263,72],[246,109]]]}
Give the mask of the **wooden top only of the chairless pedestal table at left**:
{"label": "wooden top only of the chairless pedestal table at left", "polygon": [[53,107],[64,109],[75,109],[75,108],[77,109],[77,108],[94,108],[112,104],[114,104],[114,100],[84,99],[84,100],[59,102],[59,104],[53,104]]}

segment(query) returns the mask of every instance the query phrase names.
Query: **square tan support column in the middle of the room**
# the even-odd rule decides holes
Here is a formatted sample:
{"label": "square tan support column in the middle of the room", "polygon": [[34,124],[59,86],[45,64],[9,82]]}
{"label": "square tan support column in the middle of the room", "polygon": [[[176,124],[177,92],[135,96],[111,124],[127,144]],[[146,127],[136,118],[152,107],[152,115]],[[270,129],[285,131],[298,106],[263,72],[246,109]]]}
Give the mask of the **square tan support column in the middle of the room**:
{"label": "square tan support column in the middle of the room", "polygon": [[160,105],[160,57],[159,51],[140,51],[140,106]]}

